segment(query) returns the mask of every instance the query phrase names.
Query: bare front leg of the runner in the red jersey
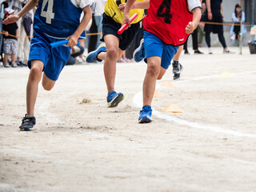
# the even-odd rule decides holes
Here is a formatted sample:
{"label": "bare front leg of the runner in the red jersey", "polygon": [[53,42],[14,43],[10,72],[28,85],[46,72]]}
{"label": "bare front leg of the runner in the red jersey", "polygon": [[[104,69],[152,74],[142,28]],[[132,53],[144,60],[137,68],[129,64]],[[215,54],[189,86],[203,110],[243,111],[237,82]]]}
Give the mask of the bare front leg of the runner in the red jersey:
{"label": "bare front leg of the runner in the red jersey", "polygon": [[147,58],[147,70],[143,82],[143,106],[151,106],[154,97],[155,82],[160,73],[160,65],[161,58]]}

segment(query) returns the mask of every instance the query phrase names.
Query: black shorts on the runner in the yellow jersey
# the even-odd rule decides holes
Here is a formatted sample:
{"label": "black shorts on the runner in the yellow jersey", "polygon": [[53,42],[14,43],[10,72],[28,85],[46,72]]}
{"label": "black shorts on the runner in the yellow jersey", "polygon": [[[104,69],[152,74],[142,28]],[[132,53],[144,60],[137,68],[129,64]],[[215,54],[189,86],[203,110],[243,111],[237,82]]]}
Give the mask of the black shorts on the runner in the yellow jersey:
{"label": "black shorts on the runner in the yellow jersey", "polygon": [[126,50],[130,43],[134,40],[136,34],[138,34],[139,22],[132,24],[127,30],[118,34],[118,30],[122,25],[118,22],[115,22],[113,18],[107,14],[103,14],[102,20],[102,39],[104,42],[104,36],[106,34],[113,34],[114,36],[120,39],[119,48],[121,50]]}

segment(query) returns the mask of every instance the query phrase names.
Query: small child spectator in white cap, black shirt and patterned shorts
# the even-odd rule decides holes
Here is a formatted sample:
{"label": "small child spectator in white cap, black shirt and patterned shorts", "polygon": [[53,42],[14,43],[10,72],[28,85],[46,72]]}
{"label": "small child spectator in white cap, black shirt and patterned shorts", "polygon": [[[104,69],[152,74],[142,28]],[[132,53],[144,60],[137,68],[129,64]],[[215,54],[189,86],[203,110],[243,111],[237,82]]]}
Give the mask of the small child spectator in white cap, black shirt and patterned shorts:
{"label": "small child spectator in white cap, black shirt and patterned shorts", "polygon": [[[5,18],[7,18],[10,14],[14,14],[14,10],[11,10],[10,8],[5,9]],[[5,34],[3,38],[3,66],[10,67],[8,58],[10,55],[11,58],[11,66],[17,67],[16,64],[16,54],[17,54],[17,48],[18,48],[18,25],[16,22],[5,25],[2,25],[2,33]]]}

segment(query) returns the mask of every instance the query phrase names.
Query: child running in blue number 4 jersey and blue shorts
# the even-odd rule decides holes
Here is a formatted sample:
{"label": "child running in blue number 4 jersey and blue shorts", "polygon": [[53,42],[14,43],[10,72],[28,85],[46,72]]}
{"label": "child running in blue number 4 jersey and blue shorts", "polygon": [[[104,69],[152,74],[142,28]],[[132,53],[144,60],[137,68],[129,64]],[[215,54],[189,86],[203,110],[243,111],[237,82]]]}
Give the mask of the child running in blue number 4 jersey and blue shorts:
{"label": "child running in blue number 4 jersey and blue shorts", "polygon": [[[17,22],[35,6],[38,8],[34,14],[34,37],[31,40],[28,61],[30,75],[26,86],[26,115],[22,119],[20,130],[36,129],[34,105],[38,83],[42,78],[45,90],[54,87],[70,58],[70,46],[75,46],[81,36],[84,38],[83,32],[91,18],[90,0],[30,0],[17,15],[10,15],[3,23]],[[84,17],[80,22],[82,12]],[[60,39],[68,40],[66,46],[51,49],[50,43]]]}

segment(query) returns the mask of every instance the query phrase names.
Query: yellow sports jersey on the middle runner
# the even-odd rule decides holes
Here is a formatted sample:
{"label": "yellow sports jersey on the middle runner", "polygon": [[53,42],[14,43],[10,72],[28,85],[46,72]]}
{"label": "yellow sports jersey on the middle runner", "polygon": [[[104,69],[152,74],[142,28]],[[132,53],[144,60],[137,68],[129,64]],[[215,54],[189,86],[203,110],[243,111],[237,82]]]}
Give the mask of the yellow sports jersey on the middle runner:
{"label": "yellow sports jersey on the middle runner", "polygon": [[[144,0],[137,0],[136,2],[143,2]],[[125,3],[126,0],[107,0],[105,5],[105,14],[109,15],[114,21],[122,24],[123,13],[118,10],[118,6],[122,3]],[[129,16],[133,16],[135,13],[138,14],[138,17],[134,19],[134,22],[140,22],[143,18],[144,10],[130,10]]]}

